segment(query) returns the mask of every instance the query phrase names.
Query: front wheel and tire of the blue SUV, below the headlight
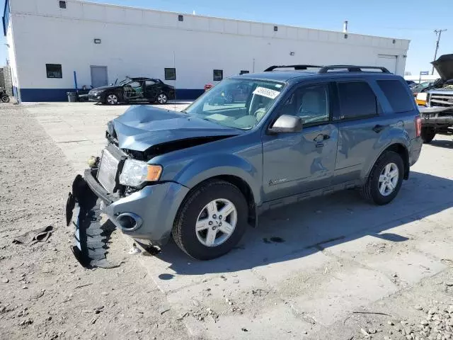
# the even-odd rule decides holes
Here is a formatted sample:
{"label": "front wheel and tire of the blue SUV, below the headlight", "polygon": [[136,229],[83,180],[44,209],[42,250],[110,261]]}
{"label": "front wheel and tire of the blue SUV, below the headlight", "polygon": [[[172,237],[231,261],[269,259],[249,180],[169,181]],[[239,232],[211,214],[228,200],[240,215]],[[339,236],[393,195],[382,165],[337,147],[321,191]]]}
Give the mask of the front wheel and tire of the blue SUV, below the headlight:
{"label": "front wheel and tire of the blue SUV, below the headlight", "polygon": [[226,181],[208,181],[195,188],[181,205],[173,224],[173,239],[195,259],[222,256],[246,231],[247,207],[239,188]]}

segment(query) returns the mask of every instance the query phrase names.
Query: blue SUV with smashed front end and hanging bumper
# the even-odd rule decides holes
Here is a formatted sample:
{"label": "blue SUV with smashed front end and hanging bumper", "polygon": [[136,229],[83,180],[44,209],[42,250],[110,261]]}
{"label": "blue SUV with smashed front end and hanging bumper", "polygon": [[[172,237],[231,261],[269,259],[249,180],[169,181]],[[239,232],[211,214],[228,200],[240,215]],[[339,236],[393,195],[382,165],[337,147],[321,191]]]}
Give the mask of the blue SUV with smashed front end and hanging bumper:
{"label": "blue SUV with smashed front end and hanging bumper", "polygon": [[[182,112],[132,106],[110,121],[107,146],[67,200],[81,254],[99,246],[101,212],[139,242],[173,235],[207,260],[271,208],[345,188],[391,202],[422,146],[403,78],[382,67],[278,68],[225,79]],[[219,104],[238,86],[243,96]]]}

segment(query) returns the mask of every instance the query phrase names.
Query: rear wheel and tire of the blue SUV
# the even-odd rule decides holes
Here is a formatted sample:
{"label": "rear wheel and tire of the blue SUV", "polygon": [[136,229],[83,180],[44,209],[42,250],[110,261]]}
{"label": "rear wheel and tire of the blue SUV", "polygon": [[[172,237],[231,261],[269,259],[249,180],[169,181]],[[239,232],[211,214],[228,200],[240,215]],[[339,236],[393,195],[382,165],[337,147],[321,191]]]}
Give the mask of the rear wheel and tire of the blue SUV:
{"label": "rear wheel and tire of the blue SUV", "polygon": [[393,151],[384,152],[362,187],[362,197],[377,205],[390,203],[401,189],[403,176],[404,162],[401,156]]}

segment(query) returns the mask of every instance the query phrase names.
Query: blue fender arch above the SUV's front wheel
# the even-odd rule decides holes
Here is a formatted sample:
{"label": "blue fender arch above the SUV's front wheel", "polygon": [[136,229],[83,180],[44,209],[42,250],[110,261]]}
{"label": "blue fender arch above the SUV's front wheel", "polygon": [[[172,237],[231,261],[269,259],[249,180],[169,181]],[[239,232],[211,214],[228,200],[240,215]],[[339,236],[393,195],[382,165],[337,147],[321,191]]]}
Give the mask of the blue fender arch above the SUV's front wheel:
{"label": "blue fender arch above the SUV's front wheel", "polygon": [[255,203],[261,201],[261,174],[253,164],[235,154],[216,154],[194,159],[183,166],[174,177],[174,181],[193,188],[197,184],[216,176],[236,176],[251,188]]}

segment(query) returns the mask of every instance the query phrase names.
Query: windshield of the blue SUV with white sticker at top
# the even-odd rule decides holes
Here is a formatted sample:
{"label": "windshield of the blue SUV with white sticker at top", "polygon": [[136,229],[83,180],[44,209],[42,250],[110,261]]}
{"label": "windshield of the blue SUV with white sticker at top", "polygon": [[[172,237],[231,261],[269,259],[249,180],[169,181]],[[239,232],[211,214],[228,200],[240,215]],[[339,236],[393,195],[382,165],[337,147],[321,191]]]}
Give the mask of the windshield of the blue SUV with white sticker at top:
{"label": "windshield of the blue SUV with white sticker at top", "polygon": [[253,128],[277,100],[285,84],[253,79],[225,79],[207,91],[185,113],[230,128]]}

